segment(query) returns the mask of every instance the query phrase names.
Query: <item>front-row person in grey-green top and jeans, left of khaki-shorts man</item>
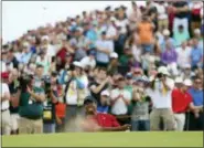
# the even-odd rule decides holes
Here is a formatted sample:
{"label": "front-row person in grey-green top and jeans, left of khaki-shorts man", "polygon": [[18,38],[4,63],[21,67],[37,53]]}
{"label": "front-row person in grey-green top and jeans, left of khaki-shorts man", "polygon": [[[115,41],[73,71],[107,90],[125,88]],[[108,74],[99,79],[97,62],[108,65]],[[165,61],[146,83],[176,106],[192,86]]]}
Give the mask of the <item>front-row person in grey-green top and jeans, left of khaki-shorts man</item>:
{"label": "front-row person in grey-green top and jeans, left of khaki-shorts man", "polygon": [[133,83],[133,110],[131,115],[131,129],[135,130],[150,130],[149,106],[150,99],[144,94],[146,77],[141,77]]}

